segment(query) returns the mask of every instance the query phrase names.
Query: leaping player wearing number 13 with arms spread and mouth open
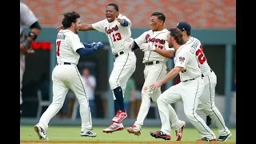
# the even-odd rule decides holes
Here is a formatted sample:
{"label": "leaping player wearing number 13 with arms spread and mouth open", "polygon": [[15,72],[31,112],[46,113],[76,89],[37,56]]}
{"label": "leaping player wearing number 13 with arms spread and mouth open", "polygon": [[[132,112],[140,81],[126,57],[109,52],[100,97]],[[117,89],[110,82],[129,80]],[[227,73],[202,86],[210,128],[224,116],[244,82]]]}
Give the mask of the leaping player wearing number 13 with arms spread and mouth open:
{"label": "leaping player wearing number 13 with arms spread and mouth open", "polygon": [[[110,74],[110,89],[113,90],[115,116],[104,133],[123,130],[122,120],[127,117],[124,109],[124,92],[126,83],[136,68],[136,56],[131,50],[134,39],[131,38],[131,22],[126,16],[119,14],[118,5],[110,3],[106,6],[106,19],[94,24],[82,24],[80,30],[98,30],[105,33],[114,54],[114,67]],[[62,26],[57,28],[62,29]]]}

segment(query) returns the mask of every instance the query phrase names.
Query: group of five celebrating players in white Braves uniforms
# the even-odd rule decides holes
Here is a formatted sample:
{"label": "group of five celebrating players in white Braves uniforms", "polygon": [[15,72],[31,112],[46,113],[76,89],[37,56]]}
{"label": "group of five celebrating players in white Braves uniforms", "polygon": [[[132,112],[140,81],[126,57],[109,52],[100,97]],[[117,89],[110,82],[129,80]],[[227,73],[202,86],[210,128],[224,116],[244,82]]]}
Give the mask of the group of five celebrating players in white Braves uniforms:
{"label": "group of five celebrating players in white Braves uniforms", "polygon": [[[48,139],[46,130],[50,119],[62,108],[68,90],[74,91],[80,103],[81,136],[96,137],[97,135],[92,130],[89,101],[84,89],[85,82],[78,72],[77,64],[80,56],[101,50],[104,45],[102,42],[80,42],[78,31],[87,30],[98,30],[106,34],[115,58],[114,68],[109,78],[110,89],[113,90],[115,116],[110,126],[102,130],[104,133],[124,129],[122,121],[127,114],[124,109],[123,97],[126,82],[136,69],[137,58],[134,50],[139,49],[144,52],[142,63],[145,64],[145,82],[142,86],[142,104],[136,122],[133,126],[126,128],[129,133],[141,134],[143,122],[150,109],[151,98],[158,105],[162,122],[161,130],[150,132],[154,138],[170,140],[172,128],[177,136],[176,141],[182,140],[186,122],[178,119],[174,108],[170,105],[174,102],[183,103],[186,117],[202,136],[198,141],[225,142],[231,137],[222,114],[214,105],[217,77],[207,63],[201,42],[198,38],[191,36],[191,26],[188,22],[178,22],[176,27],[167,30],[165,15],[154,12],[150,15],[151,30],[144,32],[138,38],[131,38],[132,23],[125,15],[119,14],[118,5],[115,3],[106,6],[106,19],[94,24],[82,24],[80,15],[74,11],[63,15],[62,26],[57,28],[57,65],[52,73],[53,102],[42,114],[38,124],[34,126],[40,139]],[[32,21],[28,26],[31,24],[33,24]],[[31,34],[38,35],[32,30]],[[27,43],[23,42],[22,44],[27,45]],[[174,60],[174,68],[170,71],[166,67],[168,59]],[[162,93],[161,86],[178,74],[181,82]],[[206,122],[198,116],[197,110],[204,112],[218,127],[218,138]]]}

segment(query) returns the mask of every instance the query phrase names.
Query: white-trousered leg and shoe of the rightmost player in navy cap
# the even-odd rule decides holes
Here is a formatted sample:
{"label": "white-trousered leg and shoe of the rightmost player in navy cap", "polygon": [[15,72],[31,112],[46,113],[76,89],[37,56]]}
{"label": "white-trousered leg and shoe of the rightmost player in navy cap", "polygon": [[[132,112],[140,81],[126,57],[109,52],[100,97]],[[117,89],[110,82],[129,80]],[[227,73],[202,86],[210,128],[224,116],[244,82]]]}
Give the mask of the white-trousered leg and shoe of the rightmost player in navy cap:
{"label": "white-trousered leg and shoe of the rightmost player in navy cap", "polygon": [[214,72],[212,72],[210,75],[206,76],[206,78],[203,78],[203,80],[205,88],[203,90],[202,96],[200,97],[202,108],[206,111],[207,114],[209,114],[214,124],[218,127],[218,141],[226,141],[231,137],[231,133],[225,125],[222,114],[214,104],[217,77]]}

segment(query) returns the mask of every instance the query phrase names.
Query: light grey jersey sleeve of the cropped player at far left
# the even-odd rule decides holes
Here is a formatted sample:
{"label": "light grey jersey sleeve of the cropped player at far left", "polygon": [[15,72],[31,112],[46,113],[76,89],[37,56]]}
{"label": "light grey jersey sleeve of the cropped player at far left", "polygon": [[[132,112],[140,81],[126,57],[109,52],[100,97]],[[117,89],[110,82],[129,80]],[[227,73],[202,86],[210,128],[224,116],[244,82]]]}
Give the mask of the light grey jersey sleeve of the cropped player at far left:
{"label": "light grey jersey sleeve of the cropped player at far left", "polygon": [[19,32],[22,34],[23,26],[31,26],[34,22],[37,22],[38,18],[30,10],[25,3],[20,2],[20,28]]}

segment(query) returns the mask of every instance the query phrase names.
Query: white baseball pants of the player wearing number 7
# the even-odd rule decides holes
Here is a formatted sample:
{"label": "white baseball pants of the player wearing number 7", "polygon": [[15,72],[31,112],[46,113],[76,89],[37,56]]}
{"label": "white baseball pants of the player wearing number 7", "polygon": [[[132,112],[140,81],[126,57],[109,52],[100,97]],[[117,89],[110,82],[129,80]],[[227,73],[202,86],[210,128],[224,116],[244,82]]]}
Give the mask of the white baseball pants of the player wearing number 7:
{"label": "white baseball pants of the player wearing number 7", "polygon": [[66,94],[72,90],[78,98],[80,104],[80,115],[82,120],[82,130],[91,130],[91,114],[89,107],[89,100],[86,95],[86,85],[78,71],[76,65],[63,65],[60,64],[54,67],[52,73],[53,80],[53,102],[42,114],[39,120],[39,126],[47,130],[50,119],[62,108]]}

